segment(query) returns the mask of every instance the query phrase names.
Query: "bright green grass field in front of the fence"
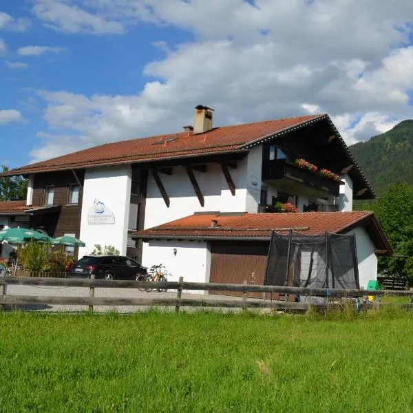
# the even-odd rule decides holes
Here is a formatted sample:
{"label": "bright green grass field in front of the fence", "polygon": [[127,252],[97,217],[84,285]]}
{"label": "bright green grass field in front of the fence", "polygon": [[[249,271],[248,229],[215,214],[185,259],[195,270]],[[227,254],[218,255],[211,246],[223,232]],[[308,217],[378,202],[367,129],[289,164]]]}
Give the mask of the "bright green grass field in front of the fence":
{"label": "bright green grass field in front of the fence", "polygon": [[0,314],[1,412],[412,412],[413,314]]}

